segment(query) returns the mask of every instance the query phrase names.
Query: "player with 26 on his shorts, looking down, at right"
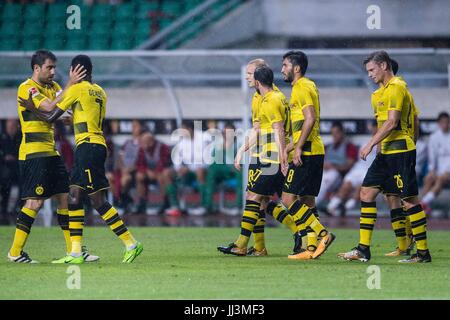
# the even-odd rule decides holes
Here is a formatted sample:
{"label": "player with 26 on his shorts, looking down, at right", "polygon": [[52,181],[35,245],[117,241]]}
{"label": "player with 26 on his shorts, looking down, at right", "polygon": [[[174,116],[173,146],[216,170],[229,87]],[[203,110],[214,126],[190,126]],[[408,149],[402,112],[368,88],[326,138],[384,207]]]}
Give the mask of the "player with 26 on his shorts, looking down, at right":
{"label": "player with 26 on his shorts, looking down, at right", "polygon": [[377,208],[375,198],[382,191],[398,195],[411,221],[417,253],[400,262],[431,262],[427,245],[426,216],[418,199],[415,171],[416,149],[408,127],[412,125],[412,100],[405,82],[395,77],[391,59],[385,51],[375,51],[365,60],[369,77],[383,86],[372,95],[372,107],[378,123],[378,131],[360,150],[365,160],[379,143],[380,153],[369,167],[360,191],[361,218],[358,246],[338,256],[344,260],[370,260],[370,244]]}

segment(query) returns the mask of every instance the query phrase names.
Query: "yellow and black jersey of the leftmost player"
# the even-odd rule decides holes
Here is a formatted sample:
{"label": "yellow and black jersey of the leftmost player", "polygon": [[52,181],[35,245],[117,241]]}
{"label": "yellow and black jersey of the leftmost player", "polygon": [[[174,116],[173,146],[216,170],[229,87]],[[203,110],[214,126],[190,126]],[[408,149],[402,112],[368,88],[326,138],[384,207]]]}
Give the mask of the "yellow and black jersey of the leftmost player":
{"label": "yellow and black jersey of the leftmost player", "polygon": [[[27,100],[31,93],[34,105],[39,108],[44,100],[54,100],[61,91],[60,85],[56,82],[51,85],[40,85],[32,79],[27,79],[19,86],[17,101],[19,97]],[[19,160],[59,155],[55,147],[53,124],[39,120],[31,111],[20,106],[19,102],[17,111],[23,133]]]}

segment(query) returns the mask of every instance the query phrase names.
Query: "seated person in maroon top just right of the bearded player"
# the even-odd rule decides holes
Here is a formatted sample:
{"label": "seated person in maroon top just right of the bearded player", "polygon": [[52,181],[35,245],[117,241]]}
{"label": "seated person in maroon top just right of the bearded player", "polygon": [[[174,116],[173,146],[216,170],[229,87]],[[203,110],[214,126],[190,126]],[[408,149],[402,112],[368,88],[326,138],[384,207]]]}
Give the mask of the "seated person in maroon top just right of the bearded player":
{"label": "seated person in maroon top just right of the bearded player", "polygon": [[358,158],[358,150],[354,144],[347,140],[341,122],[333,122],[331,136],[333,142],[325,146],[322,185],[316,199],[318,206],[325,200],[329,192],[339,187],[342,178],[353,167]]}

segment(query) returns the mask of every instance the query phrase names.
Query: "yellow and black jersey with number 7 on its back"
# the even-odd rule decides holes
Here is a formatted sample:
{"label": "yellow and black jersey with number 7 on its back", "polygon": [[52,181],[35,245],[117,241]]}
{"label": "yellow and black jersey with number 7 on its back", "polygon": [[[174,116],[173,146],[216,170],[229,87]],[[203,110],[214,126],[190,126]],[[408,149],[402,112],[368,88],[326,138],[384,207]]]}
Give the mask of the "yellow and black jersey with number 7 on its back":
{"label": "yellow and black jersey with number 7 on its back", "polygon": [[106,93],[97,84],[82,81],[71,86],[58,108],[73,111],[75,144],[84,142],[106,146],[102,124],[105,118]]}

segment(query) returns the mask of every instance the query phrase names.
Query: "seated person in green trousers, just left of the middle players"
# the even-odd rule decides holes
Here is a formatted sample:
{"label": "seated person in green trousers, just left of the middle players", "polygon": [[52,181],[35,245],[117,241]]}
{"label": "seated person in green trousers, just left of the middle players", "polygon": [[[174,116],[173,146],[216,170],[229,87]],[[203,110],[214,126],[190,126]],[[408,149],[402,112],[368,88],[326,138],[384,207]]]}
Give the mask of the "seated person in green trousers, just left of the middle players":
{"label": "seated person in green trousers, just left of the middle players", "polygon": [[233,185],[235,185],[235,209],[240,210],[242,208],[242,171],[234,169],[236,152],[235,127],[227,123],[222,132],[221,139],[215,141],[212,163],[206,173],[204,205],[208,212],[213,210],[213,196],[216,186],[230,179],[233,179]]}

